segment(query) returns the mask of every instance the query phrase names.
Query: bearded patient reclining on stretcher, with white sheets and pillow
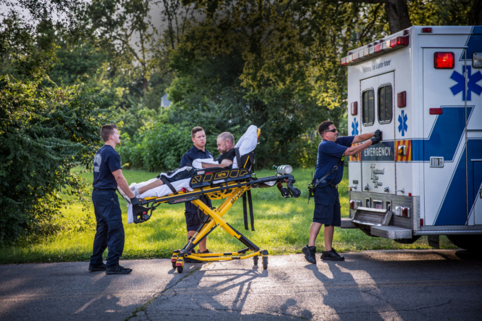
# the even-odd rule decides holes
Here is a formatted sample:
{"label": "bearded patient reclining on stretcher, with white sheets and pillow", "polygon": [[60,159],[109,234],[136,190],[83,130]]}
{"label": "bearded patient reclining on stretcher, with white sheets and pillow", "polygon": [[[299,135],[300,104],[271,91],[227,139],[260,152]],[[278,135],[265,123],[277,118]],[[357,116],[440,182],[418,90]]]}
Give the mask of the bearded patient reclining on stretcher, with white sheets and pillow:
{"label": "bearded patient reclining on stretcher, with white sheets and pillow", "polygon": [[[253,151],[256,144],[258,144],[258,128],[254,125],[249,126],[249,129],[242,135],[238,144],[235,144],[235,146],[233,146],[233,135],[231,135],[231,133],[222,133],[217,138],[217,144],[220,156],[216,159],[195,159],[193,164],[191,164],[192,166],[185,166],[172,172],[161,173],[154,179],[137,184],[133,183],[129,187],[138,198],[163,197],[173,192],[171,188],[174,188],[177,192],[183,188],[192,191],[193,189],[189,186],[189,181],[194,170],[209,167],[238,168],[234,148],[238,148],[241,156]],[[167,186],[166,182],[169,182],[170,186]],[[127,195],[124,195],[121,190],[119,190],[119,192],[123,195],[129,206],[127,222],[132,223],[130,199]]]}

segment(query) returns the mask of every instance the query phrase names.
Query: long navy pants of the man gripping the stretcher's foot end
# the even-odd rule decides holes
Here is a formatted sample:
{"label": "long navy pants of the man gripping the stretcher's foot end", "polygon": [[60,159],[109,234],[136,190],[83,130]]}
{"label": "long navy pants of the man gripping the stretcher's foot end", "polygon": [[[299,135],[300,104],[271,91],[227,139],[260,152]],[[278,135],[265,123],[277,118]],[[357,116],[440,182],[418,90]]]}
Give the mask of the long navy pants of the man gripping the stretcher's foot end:
{"label": "long navy pants of the man gripping the stretcher's foot end", "polygon": [[97,228],[94,237],[94,249],[90,256],[90,265],[101,265],[102,254],[109,247],[107,267],[118,265],[124,250],[124,225],[121,206],[115,190],[97,190],[92,192]]}

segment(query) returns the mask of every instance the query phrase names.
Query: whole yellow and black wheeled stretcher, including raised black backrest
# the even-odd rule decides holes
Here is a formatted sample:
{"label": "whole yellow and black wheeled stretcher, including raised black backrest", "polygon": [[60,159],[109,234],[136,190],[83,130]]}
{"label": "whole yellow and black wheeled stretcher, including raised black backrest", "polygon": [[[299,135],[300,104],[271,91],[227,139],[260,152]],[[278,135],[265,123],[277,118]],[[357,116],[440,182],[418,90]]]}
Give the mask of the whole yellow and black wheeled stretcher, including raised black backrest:
{"label": "whole yellow and black wheeled stretcher, including raised black backrest", "polygon": [[[258,137],[260,130],[258,129]],[[268,251],[260,250],[246,236],[235,230],[223,219],[233,204],[240,198],[243,202],[244,228],[248,230],[247,202],[251,218],[251,230],[253,225],[253,204],[251,201],[251,189],[270,188],[277,186],[282,197],[300,197],[301,191],[295,188],[295,178],[291,175],[291,166],[280,166],[273,176],[258,178],[251,172],[254,164],[255,153],[239,155],[237,163],[242,164],[239,168],[203,168],[196,170],[191,176],[189,186],[192,191],[183,188],[180,192],[163,197],[146,197],[139,199],[140,206],[134,206],[132,212],[134,223],[143,223],[149,220],[152,213],[161,203],[177,204],[190,201],[199,208],[202,213],[201,224],[187,244],[180,250],[175,250],[171,256],[171,263],[178,273],[182,273],[186,261],[209,262],[209,261],[231,261],[253,258],[254,264],[258,265],[258,259],[262,256],[263,269],[268,268]],[[286,184],[283,187],[282,184]],[[209,199],[225,199],[218,208],[210,208],[200,201],[200,197],[206,195]],[[228,234],[238,239],[244,246],[236,252],[207,253],[200,254],[193,251],[194,247],[205,239],[216,228],[222,228]]]}

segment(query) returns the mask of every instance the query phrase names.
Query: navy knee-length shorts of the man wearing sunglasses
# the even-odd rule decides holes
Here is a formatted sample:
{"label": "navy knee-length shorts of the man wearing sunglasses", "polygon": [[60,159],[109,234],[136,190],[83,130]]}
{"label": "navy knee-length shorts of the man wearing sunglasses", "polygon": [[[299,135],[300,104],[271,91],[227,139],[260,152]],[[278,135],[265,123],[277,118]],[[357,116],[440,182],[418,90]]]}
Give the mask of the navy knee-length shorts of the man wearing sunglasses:
{"label": "navy knee-length shorts of the man wearing sunglasses", "polygon": [[315,213],[313,222],[325,226],[341,226],[342,210],[339,205],[338,190],[331,186],[315,188]]}

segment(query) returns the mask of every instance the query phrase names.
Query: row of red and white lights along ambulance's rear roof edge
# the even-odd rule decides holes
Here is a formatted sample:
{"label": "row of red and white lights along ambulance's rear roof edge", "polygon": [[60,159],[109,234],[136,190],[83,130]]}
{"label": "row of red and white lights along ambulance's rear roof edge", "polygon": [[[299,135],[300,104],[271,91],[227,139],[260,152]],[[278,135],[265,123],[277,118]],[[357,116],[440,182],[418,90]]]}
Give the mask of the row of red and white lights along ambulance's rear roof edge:
{"label": "row of red and white lights along ambulance's rear roof edge", "polygon": [[[405,31],[405,30],[404,30]],[[409,32],[404,32],[404,34],[410,34]],[[399,47],[405,47],[409,44],[409,36],[397,36],[388,40],[379,39],[374,41],[364,47],[364,49],[357,50],[356,52],[348,52],[348,56],[340,60],[340,65],[353,65],[353,63],[359,60],[364,60],[369,56],[375,54],[381,54],[388,50],[398,49]]]}

